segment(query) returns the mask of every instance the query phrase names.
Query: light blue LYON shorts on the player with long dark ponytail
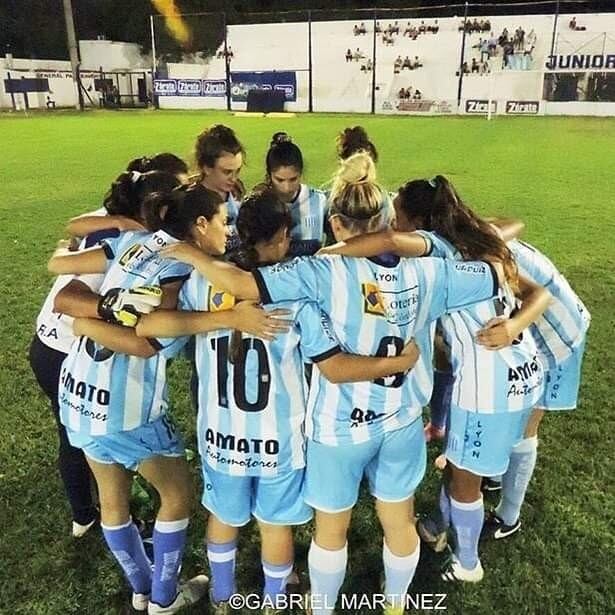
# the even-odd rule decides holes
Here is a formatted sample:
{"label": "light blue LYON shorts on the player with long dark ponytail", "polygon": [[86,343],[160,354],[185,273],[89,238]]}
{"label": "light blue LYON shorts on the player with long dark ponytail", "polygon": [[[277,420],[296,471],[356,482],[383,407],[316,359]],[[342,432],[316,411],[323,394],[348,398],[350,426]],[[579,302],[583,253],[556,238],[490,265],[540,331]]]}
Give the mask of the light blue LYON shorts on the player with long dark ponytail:
{"label": "light blue LYON shorts on the player with long dark ponytail", "polygon": [[532,408],[481,414],[451,405],[446,458],[477,476],[499,476],[508,468],[512,448],[523,438]]}

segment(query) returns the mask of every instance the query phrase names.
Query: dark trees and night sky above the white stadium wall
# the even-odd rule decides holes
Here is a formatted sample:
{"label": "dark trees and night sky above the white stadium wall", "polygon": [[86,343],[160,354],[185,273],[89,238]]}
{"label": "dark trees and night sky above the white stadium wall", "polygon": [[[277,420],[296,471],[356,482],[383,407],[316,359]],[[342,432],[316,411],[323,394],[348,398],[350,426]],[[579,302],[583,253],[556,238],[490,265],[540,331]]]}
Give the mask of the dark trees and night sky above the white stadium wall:
{"label": "dark trees and night sky above the white stadium wall", "polygon": [[[77,37],[96,38],[103,34],[106,38],[118,41],[131,41],[143,46],[144,51],[151,47],[149,15],[153,12],[149,0],[72,0],[75,13]],[[441,0],[381,0],[366,2],[362,0],[176,0],[183,13],[219,12],[209,18],[189,18],[193,31],[193,41],[188,51],[210,53],[222,40],[223,17],[226,13],[229,24],[252,23],[258,21],[298,21],[307,18],[307,10],[312,10],[312,19],[358,19],[373,18],[373,11],[358,12],[356,9],[371,9],[374,4],[383,10],[378,14],[381,19],[446,17],[463,14],[463,2],[442,2]],[[447,9],[431,9],[433,6],[448,5]],[[472,5],[485,5],[484,8],[472,6],[471,15],[498,15],[519,13],[553,13],[556,2],[528,7],[527,0],[471,0]],[[335,6],[335,11],[331,9]],[[456,6],[455,6],[456,5]],[[518,5],[518,6],[516,6]],[[615,10],[612,0],[587,0],[568,3],[562,0],[561,10],[566,13],[583,13]],[[289,10],[292,9],[292,10]],[[413,10],[414,9],[414,10]],[[288,13],[284,13],[288,11]],[[251,12],[271,12],[270,15],[249,15]],[[162,22],[157,20],[157,48],[171,59],[181,54],[177,45],[167,36]],[[159,37],[159,38],[158,38]],[[66,28],[62,0],[1,0],[0,1],[0,53],[12,53],[14,57],[67,59]]]}

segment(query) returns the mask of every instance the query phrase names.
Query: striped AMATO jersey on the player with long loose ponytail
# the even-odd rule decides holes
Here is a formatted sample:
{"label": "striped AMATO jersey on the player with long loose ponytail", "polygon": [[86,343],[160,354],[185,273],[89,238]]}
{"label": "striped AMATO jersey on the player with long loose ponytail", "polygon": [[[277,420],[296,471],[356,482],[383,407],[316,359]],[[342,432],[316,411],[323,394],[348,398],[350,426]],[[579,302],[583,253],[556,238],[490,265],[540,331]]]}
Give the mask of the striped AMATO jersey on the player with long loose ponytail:
{"label": "striped AMATO jersey on the player with long loose ponytail", "polygon": [[[438,234],[421,234],[431,242],[431,255],[460,259],[457,249]],[[505,284],[494,299],[440,319],[455,377],[451,403],[458,408],[492,414],[531,408],[538,401],[544,373],[529,332],[502,350],[489,350],[475,341],[489,320],[508,317],[516,307],[516,297]]]}

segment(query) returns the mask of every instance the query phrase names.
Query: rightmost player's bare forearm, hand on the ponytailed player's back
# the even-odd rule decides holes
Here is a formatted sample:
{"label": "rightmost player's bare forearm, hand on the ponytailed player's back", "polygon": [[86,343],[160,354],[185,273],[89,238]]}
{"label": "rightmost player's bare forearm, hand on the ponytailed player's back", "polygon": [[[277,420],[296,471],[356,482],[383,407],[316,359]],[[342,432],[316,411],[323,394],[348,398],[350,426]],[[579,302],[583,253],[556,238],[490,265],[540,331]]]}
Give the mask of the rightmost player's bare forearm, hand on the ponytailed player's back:
{"label": "rightmost player's bare forearm, hand on the ponytailed player's back", "polygon": [[489,350],[510,346],[519,335],[535,322],[551,302],[551,293],[531,280],[519,276],[521,307],[510,318],[493,318],[477,334],[476,341]]}

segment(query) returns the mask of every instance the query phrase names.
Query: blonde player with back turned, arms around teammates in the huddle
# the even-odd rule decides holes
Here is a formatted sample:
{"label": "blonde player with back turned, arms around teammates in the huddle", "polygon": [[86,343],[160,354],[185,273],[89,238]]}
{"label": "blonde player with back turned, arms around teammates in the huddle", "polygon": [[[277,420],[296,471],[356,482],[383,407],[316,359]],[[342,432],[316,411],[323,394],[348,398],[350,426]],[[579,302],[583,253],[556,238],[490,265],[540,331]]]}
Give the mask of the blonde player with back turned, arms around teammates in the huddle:
{"label": "blonde player with back turned, arms around teammates in the huddle", "polygon": [[[382,197],[368,154],[343,161],[330,196],[336,239],[386,228],[390,212],[383,209]],[[250,274],[187,255],[181,246],[168,253],[185,258],[235,296],[263,303],[316,301],[350,352],[391,356],[415,339],[421,355],[409,378],[398,374],[370,383],[332,384],[315,369],[306,425],[305,499],[316,509],[309,552],[312,592],[319,598],[314,613],[331,613],[337,600],[346,571],[346,534],[364,474],[384,530],[386,612],[402,613],[419,559],[413,494],[425,471],[420,416],[431,393],[430,323],[446,311],[492,297],[498,289],[494,269],[484,262],[331,256],[297,258]],[[500,266],[494,268],[501,274]]]}

